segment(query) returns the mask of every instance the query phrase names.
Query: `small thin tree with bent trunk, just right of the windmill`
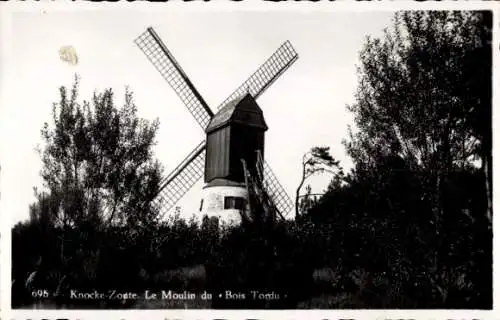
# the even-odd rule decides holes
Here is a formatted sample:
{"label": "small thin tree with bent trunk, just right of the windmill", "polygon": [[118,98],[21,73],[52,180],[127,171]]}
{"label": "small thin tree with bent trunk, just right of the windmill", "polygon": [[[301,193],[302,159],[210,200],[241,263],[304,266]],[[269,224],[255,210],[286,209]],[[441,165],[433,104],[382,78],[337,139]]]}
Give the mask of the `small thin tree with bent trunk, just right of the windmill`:
{"label": "small thin tree with bent trunk, just right of the windmill", "polygon": [[334,169],[342,172],[342,169],[339,167],[339,161],[330,155],[329,147],[313,147],[302,156],[302,177],[295,191],[295,218],[298,218],[300,215],[300,190],[304,186],[305,181],[317,173],[330,172],[336,174],[337,172]]}

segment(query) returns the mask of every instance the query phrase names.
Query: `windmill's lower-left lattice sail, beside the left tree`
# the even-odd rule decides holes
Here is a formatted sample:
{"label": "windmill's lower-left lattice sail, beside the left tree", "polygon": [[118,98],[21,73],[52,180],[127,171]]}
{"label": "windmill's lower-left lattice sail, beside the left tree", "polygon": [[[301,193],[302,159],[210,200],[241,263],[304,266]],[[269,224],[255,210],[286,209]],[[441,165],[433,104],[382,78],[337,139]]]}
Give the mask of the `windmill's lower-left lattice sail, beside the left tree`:
{"label": "windmill's lower-left lattice sail, beside the left tree", "polygon": [[160,191],[153,200],[158,209],[158,220],[184,196],[203,176],[205,167],[205,140],[184,158],[184,160],[163,179]]}

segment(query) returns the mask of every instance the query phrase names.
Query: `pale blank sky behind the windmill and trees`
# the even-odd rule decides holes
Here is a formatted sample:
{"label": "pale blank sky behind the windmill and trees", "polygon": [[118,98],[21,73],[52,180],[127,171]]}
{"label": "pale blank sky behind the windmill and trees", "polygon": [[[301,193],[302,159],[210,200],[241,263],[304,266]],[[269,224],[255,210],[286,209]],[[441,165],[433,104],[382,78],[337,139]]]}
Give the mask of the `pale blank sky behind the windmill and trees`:
{"label": "pale blank sky behind the windmill and trees", "polygon": [[[354,101],[356,64],[364,38],[380,36],[393,12],[276,11],[55,11],[50,8],[11,14],[11,41],[3,41],[0,106],[0,180],[3,212],[12,223],[28,218],[40,186],[41,161],[34,148],[50,121],[58,87],[81,76],[80,98],[113,88],[121,104],[125,86],[134,91],[139,116],[159,117],[156,156],[172,170],[204,133],[174,91],[133,40],[148,26],[172,51],[198,91],[215,110],[285,40],[299,60],[259,99],[269,130],[265,158],[293,199],[303,153],[331,147],[349,167],[341,145]],[[5,30],[4,30],[5,31]],[[79,63],[59,58],[72,45]],[[7,51],[5,51],[7,50]],[[7,79],[7,80],[6,80]],[[321,192],[330,177],[311,180]],[[183,214],[195,212],[202,180],[181,200]],[[4,217],[5,218],[5,217]]]}

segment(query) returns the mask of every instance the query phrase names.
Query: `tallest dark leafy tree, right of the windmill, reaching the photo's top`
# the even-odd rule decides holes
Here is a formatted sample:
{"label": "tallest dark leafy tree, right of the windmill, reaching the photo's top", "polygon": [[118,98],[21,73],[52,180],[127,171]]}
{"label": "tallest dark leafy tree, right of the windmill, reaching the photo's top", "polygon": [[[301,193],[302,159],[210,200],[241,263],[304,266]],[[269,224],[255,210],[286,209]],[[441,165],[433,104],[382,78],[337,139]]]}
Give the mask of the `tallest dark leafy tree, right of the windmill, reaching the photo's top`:
{"label": "tallest dark leafy tree, right of the windmill, reaching the photo's top", "polygon": [[446,176],[478,158],[490,185],[491,12],[398,13],[392,32],[368,38],[360,58],[357,102],[348,107],[359,131],[345,141],[360,170],[398,155],[430,173],[438,208]]}

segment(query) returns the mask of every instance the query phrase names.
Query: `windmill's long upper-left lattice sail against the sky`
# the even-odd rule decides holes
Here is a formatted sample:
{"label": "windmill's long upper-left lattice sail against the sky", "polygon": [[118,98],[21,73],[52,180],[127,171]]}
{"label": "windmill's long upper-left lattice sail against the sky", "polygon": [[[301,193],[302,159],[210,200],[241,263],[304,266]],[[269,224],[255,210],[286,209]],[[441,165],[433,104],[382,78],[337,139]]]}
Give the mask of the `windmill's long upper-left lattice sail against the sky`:
{"label": "windmill's long upper-left lattice sail against the sky", "polygon": [[202,129],[205,130],[210,118],[213,116],[213,112],[153,28],[148,28],[134,42],[174,89]]}

